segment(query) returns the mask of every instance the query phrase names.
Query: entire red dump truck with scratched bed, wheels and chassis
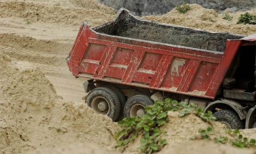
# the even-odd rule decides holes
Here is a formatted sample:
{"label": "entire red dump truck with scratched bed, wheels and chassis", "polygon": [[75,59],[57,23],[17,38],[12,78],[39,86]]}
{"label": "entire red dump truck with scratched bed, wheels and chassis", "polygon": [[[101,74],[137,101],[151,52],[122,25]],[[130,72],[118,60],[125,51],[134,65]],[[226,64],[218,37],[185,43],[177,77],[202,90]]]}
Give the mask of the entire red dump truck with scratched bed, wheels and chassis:
{"label": "entire red dump truck with scratched bed, wheels and chassis", "polygon": [[84,22],[66,58],[85,77],[85,103],[113,121],[171,98],[212,111],[227,128],[256,127],[256,35],[214,33],[135,18]]}

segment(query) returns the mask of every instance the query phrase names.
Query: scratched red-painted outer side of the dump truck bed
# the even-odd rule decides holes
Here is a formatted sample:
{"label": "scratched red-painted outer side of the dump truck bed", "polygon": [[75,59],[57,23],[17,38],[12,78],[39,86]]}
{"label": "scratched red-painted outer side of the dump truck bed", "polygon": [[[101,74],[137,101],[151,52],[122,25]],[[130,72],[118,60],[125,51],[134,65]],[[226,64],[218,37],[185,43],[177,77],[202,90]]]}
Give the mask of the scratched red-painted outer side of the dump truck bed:
{"label": "scratched red-painted outer side of the dump truck bed", "polygon": [[246,43],[227,40],[225,52],[212,52],[103,35],[84,24],[67,64],[77,77],[214,99],[234,55]]}

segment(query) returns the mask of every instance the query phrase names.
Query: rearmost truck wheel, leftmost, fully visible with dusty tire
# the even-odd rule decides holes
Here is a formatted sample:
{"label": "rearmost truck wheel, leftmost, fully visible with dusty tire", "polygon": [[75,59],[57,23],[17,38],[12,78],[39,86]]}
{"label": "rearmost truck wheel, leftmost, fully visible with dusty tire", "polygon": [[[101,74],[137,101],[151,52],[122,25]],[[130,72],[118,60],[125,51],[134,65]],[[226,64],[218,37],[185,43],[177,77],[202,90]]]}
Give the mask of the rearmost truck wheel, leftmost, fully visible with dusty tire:
{"label": "rearmost truck wheel, leftmost, fully visible with dusty tire", "polygon": [[121,105],[113,90],[107,87],[99,87],[93,89],[86,97],[85,103],[88,103],[93,110],[99,114],[111,117],[116,121],[120,116]]}

